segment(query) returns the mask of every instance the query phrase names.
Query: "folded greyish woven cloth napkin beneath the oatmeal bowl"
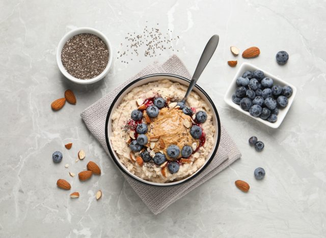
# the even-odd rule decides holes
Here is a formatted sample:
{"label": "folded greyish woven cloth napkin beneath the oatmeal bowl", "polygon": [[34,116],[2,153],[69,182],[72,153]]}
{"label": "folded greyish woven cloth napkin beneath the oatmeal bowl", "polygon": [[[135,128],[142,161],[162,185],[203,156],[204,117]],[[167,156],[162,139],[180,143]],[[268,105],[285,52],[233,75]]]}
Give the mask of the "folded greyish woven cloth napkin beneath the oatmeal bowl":
{"label": "folded greyish woven cloth napkin beneath the oatmeal bowl", "polygon": [[[191,78],[191,75],[180,61],[180,59],[173,55],[167,62],[162,65],[154,63],[143,69],[137,75],[125,81],[118,88],[113,90],[110,94],[106,95],[96,103],[88,107],[82,114],[82,118],[90,130],[90,132],[96,137],[96,139],[102,144],[106,153],[110,156],[107,150],[105,142],[105,120],[108,108],[116,95],[122,90],[122,88],[131,81],[154,73],[170,73],[183,76],[185,78]],[[153,187],[144,185],[131,179],[129,176],[124,175],[127,182],[133,188],[133,190],[140,196],[144,203],[148,206],[150,211],[155,215],[161,213],[170,204],[197,188],[202,183],[206,182],[215,174],[218,174],[235,160],[239,159],[241,154],[231,139],[227,131],[221,127],[221,141],[218,148],[218,152],[214,156],[211,163],[204,169],[199,175],[197,175],[191,181],[174,187]]]}

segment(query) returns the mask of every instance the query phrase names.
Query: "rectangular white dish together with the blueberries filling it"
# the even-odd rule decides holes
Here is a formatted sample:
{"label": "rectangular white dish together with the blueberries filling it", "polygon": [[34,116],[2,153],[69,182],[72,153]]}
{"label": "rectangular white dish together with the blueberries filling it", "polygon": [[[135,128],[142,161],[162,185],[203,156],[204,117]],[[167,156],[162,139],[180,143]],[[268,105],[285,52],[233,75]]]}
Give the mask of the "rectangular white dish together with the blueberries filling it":
{"label": "rectangular white dish together with the blueberries filling it", "polygon": [[296,95],[296,87],[249,63],[243,63],[224,97],[231,107],[278,128]]}

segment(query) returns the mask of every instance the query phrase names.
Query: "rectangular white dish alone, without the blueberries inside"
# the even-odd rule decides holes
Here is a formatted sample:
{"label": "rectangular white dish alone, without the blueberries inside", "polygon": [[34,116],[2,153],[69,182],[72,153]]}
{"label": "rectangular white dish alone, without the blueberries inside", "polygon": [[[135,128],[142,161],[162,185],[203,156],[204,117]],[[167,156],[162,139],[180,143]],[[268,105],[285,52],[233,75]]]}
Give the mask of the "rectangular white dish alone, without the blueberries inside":
{"label": "rectangular white dish alone, without the blueberries inside", "polygon": [[[288,85],[290,87],[292,87],[293,89],[293,94],[291,97],[288,98],[289,102],[288,102],[288,105],[285,107],[285,108],[279,108],[279,114],[277,115],[277,121],[275,123],[271,123],[271,122],[268,122],[266,120],[262,120],[260,117],[254,117],[252,115],[250,115],[249,111],[244,111],[241,109],[241,107],[237,104],[235,104],[233,101],[232,101],[232,95],[235,93],[235,90],[236,88],[238,87],[236,85],[236,79],[240,76],[242,76],[242,74],[246,71],[246,70],[250,70],[250,71],[255,71],[255,70],[261,70],[264,72],[264,77],[268,77],[268,78],[271,78],[273,79],[274,81],[274,84],[278,84],[278,85],[281,85],[281,86],[285,86],[285,85]],[[262,69],[259,69],[257,68],[256,66],[253,66],[252,64],[249,64],[249,63],[242,63],[242,65],[240,66],[240,68],[238,69],[237,73],[235,74],[232,82],[231,82],[231,85],[229,86],[228,88],[228,91],[226,92],[225,96],[224,96],[224,101],[230,106],[230,107],[233,107],[235,108],[236,110],[246,114],[246,115],[249,115],[250,117],[254,118],[255,120],[271,127],[271,128],[278,128],[281,123],[283,122],[283,119],[286,115],[286,113],[288,112],[288,110],[290,109],[292,103],[293,103],[293,100],[294,100],[294,97],[296,95],[296,87],[293,86],[292,84],[280,79],[279,77],[276,77],[268,72],[266,72],[265,70],[262,70]]]}

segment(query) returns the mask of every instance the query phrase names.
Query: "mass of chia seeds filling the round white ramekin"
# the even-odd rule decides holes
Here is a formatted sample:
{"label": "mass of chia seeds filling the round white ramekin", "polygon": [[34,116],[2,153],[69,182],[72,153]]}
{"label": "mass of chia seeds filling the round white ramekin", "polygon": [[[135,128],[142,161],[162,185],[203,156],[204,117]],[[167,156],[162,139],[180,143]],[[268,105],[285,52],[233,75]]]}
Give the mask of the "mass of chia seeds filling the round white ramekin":
{"label": "mass of chia seeds filling the round white ramekin", "polygon": [[93,34],[79,34],[70,38],[61,51],[66,71],[78,79],[95,78],[108,63],[105,43]]}

